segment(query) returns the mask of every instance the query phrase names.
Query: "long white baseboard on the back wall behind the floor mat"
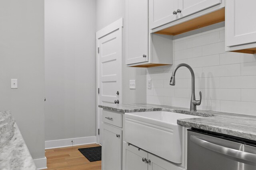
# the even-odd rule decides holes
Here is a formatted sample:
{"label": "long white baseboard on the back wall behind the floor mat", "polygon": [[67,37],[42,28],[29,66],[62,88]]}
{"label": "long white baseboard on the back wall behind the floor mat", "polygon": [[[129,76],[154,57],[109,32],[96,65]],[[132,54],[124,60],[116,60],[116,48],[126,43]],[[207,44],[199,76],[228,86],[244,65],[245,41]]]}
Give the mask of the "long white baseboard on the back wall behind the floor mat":
{"label": "long white baseboard on the back wall behind the floor mat", "polygon": [[[73,143],[71,141],[73,141]],[[72,146],[87,145],[92,143],[97,143],[96,136],[45,141],[45,149],[72,147]]]}

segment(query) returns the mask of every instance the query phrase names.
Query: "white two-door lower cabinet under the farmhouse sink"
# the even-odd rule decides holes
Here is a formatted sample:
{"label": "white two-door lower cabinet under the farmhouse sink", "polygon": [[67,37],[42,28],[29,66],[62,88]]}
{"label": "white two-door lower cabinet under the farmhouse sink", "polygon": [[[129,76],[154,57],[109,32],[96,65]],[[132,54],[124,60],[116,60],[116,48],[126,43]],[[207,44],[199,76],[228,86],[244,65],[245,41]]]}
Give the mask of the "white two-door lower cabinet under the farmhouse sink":
{"label": "white two-door lower cabinet under the farmhouse sink", "polygon": [[142,149],[125,143],[124,170],[185,170]]}

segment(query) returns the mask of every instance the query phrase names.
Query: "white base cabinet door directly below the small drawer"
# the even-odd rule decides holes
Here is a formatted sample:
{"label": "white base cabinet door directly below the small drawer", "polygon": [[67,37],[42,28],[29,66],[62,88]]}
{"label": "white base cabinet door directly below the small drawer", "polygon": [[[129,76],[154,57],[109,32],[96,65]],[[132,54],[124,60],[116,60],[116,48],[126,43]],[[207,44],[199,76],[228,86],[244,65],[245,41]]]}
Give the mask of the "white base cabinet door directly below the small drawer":
{"label": "white base cabinet door directly below the small drawer", "polygon": [[122,169],[122,129],[102,123],[102,170]]}

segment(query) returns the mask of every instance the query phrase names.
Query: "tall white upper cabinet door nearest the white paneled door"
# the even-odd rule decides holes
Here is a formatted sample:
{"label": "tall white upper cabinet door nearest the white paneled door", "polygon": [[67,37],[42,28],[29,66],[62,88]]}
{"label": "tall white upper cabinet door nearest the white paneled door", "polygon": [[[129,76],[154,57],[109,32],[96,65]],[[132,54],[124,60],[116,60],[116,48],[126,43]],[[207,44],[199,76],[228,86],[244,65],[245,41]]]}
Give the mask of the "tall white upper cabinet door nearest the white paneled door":
{"label": "tall white upper cabinet door nearest the white paneled door", "polygon": [[148,61],[148,0],[126,0],[126,64]]}

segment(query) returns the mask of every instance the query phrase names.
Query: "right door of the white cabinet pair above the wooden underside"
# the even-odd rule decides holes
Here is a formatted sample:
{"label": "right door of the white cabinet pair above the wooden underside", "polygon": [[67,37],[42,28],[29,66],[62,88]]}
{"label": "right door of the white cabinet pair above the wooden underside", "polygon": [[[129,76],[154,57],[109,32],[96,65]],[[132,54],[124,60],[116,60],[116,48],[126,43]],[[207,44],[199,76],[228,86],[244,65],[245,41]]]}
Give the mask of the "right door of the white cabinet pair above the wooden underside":
{"label": "right door of the white cabinet pair above the wooden underside", "polygon": [[178,13],[179,18],[194,14],[196,12],[205,10],[206,8],[210,8],[212,6],[215,6],[221,3],[221,0],[178,0],[178,1],[179,1],[178,9],[181,10],[181,12]]}

